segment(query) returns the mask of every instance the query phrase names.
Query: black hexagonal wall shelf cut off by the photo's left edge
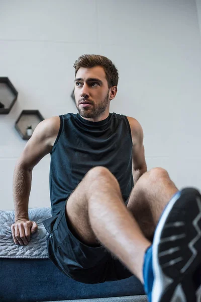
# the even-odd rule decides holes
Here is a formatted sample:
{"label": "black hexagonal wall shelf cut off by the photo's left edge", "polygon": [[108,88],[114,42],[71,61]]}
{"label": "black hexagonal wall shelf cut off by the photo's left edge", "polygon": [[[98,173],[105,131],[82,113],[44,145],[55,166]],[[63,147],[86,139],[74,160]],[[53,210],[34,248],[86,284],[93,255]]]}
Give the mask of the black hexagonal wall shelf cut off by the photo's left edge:
{"label": "black hexagonal wall shelf cut off by the photo's left edge", "polygon": [[0,77],[0,114],[8,114],[15,104],[18,92],[6,77]]}

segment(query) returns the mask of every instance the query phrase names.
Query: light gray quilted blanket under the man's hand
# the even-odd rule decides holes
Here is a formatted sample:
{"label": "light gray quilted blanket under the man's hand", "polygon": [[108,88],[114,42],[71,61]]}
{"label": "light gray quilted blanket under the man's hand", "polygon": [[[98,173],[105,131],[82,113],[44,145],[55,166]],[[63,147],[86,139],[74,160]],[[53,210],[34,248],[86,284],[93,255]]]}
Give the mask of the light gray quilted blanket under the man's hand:
{"label": "light gray quilted blanket under the man's hand", "polygon": [[16,245],[11,233],[15,222],[14,210],[0,210],[0,258],[48,258],[46,247],[47,231],[42,223],[51,217],[51,208],[30,208],[29,219],[38,224],[38,231],[31,235],[27,246]]}

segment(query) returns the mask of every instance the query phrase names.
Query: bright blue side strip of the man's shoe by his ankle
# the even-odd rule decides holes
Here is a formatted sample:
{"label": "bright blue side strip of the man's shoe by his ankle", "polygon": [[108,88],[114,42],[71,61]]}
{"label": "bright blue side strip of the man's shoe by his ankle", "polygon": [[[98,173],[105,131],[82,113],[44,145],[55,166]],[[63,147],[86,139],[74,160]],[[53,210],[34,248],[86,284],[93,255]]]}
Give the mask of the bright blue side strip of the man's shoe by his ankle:
{"label": "bright blue side strip of the man's shoe by his ankle", "polygon": [[144,277],[144,289],[148,295],[149,302],[151,302],[151,292],[154,282],[154,274],[152,267],[152,246],[150,246],[144,255],[144,266],[143,266],[143,277]]}

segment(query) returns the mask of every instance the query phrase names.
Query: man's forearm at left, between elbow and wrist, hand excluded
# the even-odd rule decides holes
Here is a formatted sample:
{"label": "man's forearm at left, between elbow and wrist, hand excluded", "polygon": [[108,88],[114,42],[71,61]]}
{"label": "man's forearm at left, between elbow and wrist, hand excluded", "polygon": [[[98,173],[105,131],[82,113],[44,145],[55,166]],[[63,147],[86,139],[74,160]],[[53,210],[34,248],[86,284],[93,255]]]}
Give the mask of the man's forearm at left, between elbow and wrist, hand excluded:
{"label": "man's forearm at left, between elbow and wrist, hand excluded", "polygon": [[15,222],[19,219],[29,219],[28,204],[31,191],[32,171],[17,164],[13,178],[13,197],[15,205]]}

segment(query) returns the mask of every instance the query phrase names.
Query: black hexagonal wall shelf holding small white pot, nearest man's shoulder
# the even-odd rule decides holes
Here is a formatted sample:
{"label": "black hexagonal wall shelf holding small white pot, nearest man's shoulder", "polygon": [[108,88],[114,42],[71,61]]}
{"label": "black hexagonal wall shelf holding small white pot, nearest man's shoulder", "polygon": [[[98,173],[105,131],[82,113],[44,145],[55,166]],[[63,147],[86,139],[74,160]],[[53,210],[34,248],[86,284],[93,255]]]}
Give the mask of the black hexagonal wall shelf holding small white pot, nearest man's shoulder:
{"label": "black hexagonal wall shelf holding small white pot, nearest man's shoulder", "polygon": [[15,123],[15,128],[23,139],[28,140],[32,136],[32,133],[28,132],[28,128],[31,126],[31,130],[34,131],[43,120],[44,117],[38,110],[23,110]]}

